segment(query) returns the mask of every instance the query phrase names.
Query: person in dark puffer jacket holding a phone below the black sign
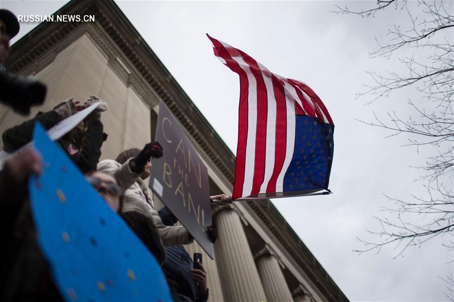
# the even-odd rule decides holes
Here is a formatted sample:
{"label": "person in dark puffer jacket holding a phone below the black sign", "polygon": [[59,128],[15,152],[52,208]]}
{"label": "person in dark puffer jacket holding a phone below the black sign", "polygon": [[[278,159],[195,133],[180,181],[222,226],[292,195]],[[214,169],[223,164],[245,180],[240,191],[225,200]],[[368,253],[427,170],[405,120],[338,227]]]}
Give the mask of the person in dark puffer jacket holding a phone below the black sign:
{"label": "person in dark puffer jacket holding a phone below the black sign", "polygon": [[[158,211],[164,225],[174,225],[178,219],[167,208]],[[165,247],[165,261],[161,268],[175,302],[206,302],[207,276],[200,262],[194,263],[183,246]]]}

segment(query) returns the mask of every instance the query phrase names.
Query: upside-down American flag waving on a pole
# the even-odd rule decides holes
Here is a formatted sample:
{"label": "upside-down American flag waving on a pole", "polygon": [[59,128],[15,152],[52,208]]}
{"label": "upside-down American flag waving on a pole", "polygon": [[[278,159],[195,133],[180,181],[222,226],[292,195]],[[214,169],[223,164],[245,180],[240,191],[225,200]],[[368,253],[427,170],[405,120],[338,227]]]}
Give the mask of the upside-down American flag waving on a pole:
{"label": "upside-down American flag waving on a pole", "polygon": [[301,81],[271,73],[240,49],[216,40],[214,55],[240,76],[233,199],[329,193],[334,124]]}

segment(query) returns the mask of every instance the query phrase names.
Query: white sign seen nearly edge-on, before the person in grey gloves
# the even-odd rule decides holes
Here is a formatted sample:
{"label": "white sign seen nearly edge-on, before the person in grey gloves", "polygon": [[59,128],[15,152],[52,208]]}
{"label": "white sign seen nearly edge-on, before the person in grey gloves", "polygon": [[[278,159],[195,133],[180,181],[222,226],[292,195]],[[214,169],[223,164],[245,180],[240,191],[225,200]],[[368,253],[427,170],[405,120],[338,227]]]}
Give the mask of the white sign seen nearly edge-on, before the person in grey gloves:
{"label": "white sign seen nearly edge-on, before the person in grey gloves", "polygon": [[[100,104],[101,104],[101,102],[96,102],[93,105],[91,105],[90,107],[87,107],[87,108],[81,110],[80,112],[77,112],[77,113],[71,115],[70,117],[65,118],[64,120],[62,120],[61,122],[59,122],[58,124],[56,124],[55,126],[50,128],[47,131],[47,136],[52,141],[60,139],[62,136],[64,136],[65,134],[70,132],[74,127],[76,127],[77,124],[79,124],[85,117],[87,117],[88,114],[93,112],[93,110],[96,109],[96,107],[99,106]],[[26,144],[25,146],[22,146],[19,150],[14,151],[13,153],[8,153],[5,151],[0,152],[0,169],[3,167],[3,162],[5,159],[7,159],[10,156],[14,156],[15,154],[17,154],[27,148],[30,148],[32,146],[32,144],[33,144],[33,142],[30,142],[30,143]]]}

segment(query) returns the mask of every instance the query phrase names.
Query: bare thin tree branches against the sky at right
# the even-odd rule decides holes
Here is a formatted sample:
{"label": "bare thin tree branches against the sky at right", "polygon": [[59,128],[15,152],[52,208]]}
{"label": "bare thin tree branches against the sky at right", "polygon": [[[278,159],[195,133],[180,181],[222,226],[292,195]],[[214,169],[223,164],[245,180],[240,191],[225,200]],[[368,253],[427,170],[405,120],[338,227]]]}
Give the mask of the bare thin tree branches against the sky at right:
{"label": "bare thin tree branches against the sky at right", "polygon": [[[409,2],[410,3],[410,2]],[[353,14],[360,17],[376,17],[392,10],[402,13],[402,20],[409,21],[409,26],[394,25],[387,31],[386,41],[380,42],[378,48],[369,53],[372,58],[389,58],[395,55],[406,68],[406,72],[368,71],[373,80],[372,85],[358,97],[373,96],[371,102],[383,97],[390,97],[399,89],[413,88],[420,93],[420,98],[408,100],[413,112],[403,118],[395,111],[388,111],[385,118],[373,112],[372,122],[358,119],[359,122],[387,131],[386,137],[405,134],[408,136],[406,147],[432,147],[433,154],[428,156],[426,164],[419,166],[422,175],[415,179],[423,182],[426,195],[410,194],[409,198],[385,197],[392,202],[391,207],[383,207],[388,216],[374,217],[379,225],[378,231],[369,231],[376,235],[377,241],[360,239],[364,249],[358,253],[376,251],[384,246],[393,246],[398,256],[408,247],[421,247],[423,243],[435,236],[448,236],[443,244],[454,248],[454,17],[452,2],[448,8],[442,1],[417,1],[411,6],[402,0],[378,0],[371,9],[351,11],[347,7],[337,7],[338,14]],[[412,2],[412,5],[414,2]],[[419,12],[415,12],[419,10]],[[421,20],[420,20],[421,19]],[[411,56],[400,56],[401,50],[412,50]],[[446,182],[446,185],[443,184]],[[447,279],[451,285],[447,296],[454,298],[454,281]]]}

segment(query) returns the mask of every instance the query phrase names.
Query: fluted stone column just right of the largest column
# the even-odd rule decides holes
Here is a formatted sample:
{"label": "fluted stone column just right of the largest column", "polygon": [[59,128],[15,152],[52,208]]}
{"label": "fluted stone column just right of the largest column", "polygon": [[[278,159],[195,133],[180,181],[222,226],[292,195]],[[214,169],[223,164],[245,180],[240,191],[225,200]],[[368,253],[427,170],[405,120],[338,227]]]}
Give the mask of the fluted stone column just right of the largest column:
{"label": "fluted stone column just right of the largest column", "polygon": [[256,255],[257,269],[268,301],[293,301],[286,278],[273,253],[265,248]]}

